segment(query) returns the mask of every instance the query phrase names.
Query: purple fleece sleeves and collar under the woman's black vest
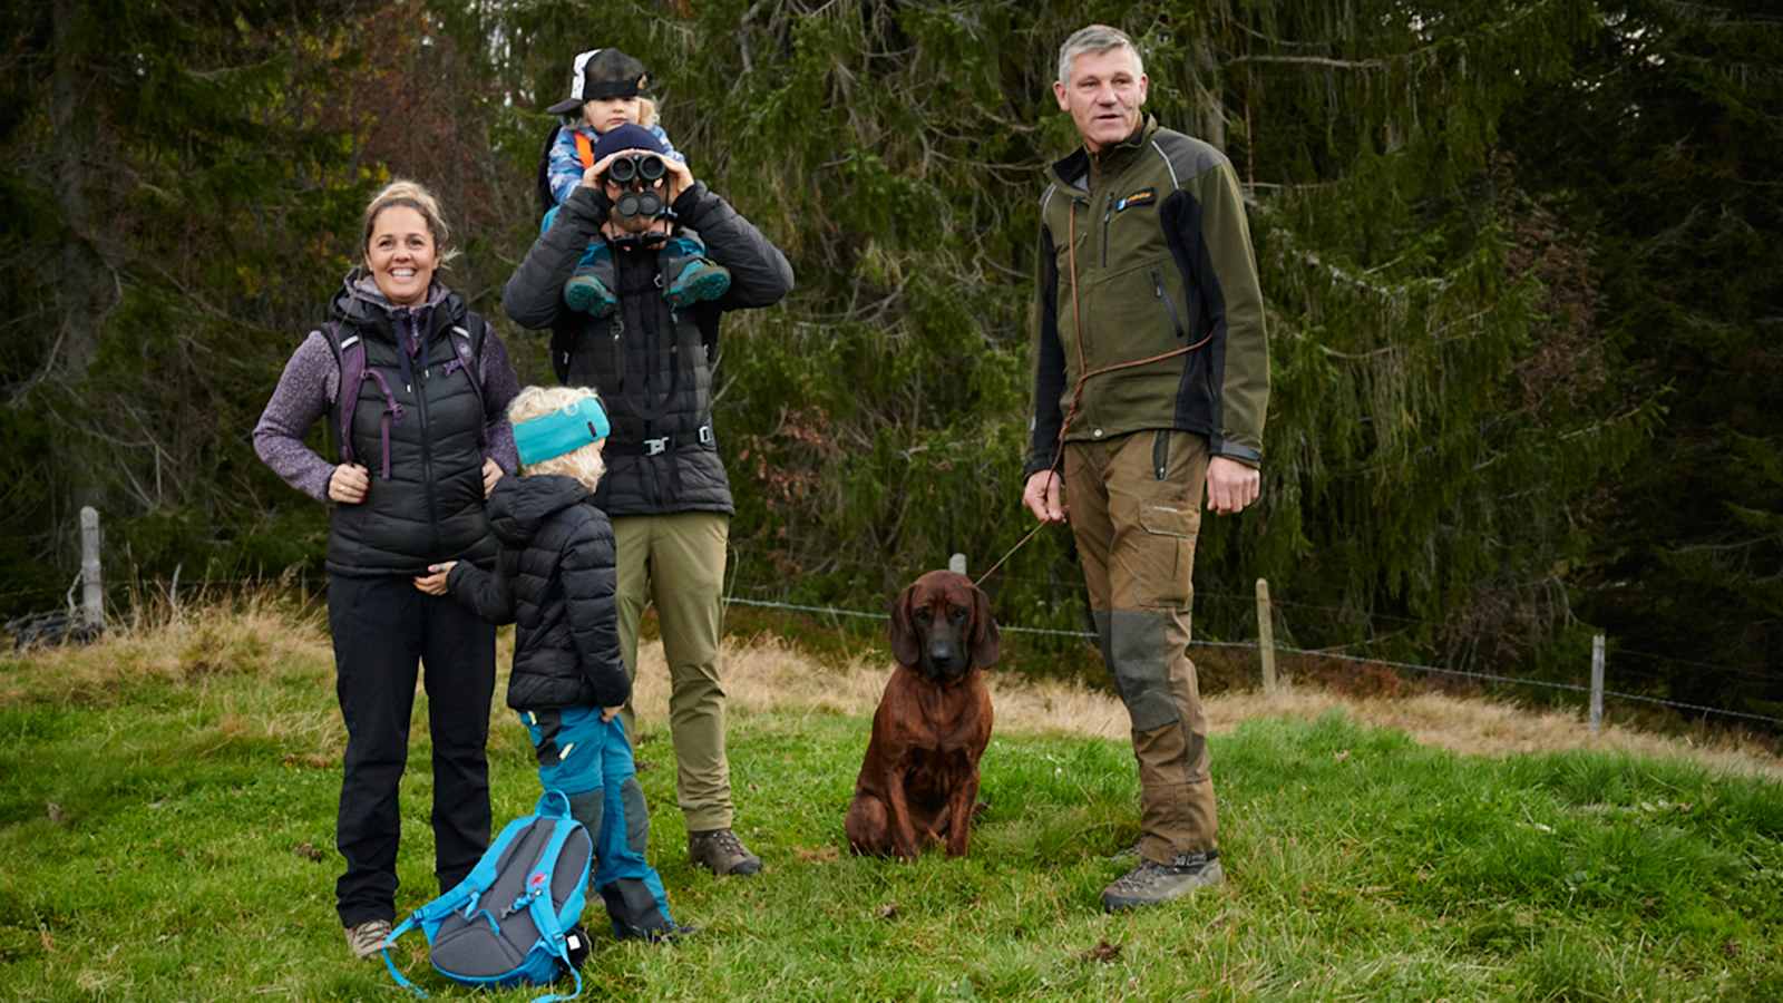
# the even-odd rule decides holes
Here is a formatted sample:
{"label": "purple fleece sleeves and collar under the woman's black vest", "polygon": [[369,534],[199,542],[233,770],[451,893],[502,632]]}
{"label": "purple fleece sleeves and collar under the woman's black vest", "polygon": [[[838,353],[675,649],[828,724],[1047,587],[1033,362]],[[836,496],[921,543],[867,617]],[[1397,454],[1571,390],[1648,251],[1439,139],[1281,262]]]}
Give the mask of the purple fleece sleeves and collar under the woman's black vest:
{"label": "purple fleece sleeves and collar under the woman's black vest", "polygon": [[[349,277],[348,289],[353,296],[383,300],[369,278],[355,282]],[[424,325],[426,311],[431,311],[444,298],[446,289],[435,284],[428,302],[408,309],[414,316],[405,319],[410,325]],[[392,312],[403,309],[383,305]],[[489,423],[483,428],[487,443],[483,455],[496,460],[503,471],[514,473],[521,460],[514,448],[514,427],[508,425],[508,403],[521,393],[521,380],[514,375],[508,348],[501,343],[496,328],[489,328],[489,336],[483,339],[478,380],[483,385],[483,405],[489,409]],[[335,364],[333,350],[328,348],[328,339],[319,330],[310,332],[303,344],[291,353],[283,375],[278,377],[278,385],[273,387],[271,400],[266,402],[266,410],[260,412],[260,421],[253,427],[253,452],[260,455],[260,460],[273,468],[285,484],[317,502],[328,500],[328,478],[333,477],[335,464],[303,444],[303,435],[328,414],[339,393],[341,368]]]}

